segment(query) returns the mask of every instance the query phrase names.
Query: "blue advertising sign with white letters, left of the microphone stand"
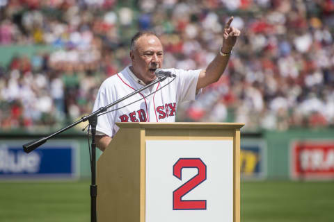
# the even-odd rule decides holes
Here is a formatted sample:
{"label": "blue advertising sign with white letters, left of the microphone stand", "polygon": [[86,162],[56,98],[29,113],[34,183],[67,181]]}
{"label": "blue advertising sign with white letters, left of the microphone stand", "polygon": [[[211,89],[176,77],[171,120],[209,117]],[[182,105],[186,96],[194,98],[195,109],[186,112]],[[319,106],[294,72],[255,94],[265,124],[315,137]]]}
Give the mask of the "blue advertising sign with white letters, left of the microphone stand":
{"label": "blue advertising sign with white letters, left of the microphone stand", "polygon": [[50,143],[31,153],[24,153],[22,144],[1,144],[0,179],[77,178],[77,144]]}

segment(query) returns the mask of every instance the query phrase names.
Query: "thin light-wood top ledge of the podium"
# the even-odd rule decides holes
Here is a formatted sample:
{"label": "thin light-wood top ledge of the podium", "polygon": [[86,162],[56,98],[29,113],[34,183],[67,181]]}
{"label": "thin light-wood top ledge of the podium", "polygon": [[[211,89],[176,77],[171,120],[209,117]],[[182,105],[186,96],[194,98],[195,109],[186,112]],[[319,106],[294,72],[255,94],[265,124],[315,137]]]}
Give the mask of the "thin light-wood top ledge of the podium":
{"label": "thin light-wood top ledge of the podium", "polygon": [[245,123],[194,123],[194,122],[177,122],[177,123],[116,123],[120,128],[167,128],[167,129],[221,129],[221,130],[232,130],[239,129],[245,125]]}

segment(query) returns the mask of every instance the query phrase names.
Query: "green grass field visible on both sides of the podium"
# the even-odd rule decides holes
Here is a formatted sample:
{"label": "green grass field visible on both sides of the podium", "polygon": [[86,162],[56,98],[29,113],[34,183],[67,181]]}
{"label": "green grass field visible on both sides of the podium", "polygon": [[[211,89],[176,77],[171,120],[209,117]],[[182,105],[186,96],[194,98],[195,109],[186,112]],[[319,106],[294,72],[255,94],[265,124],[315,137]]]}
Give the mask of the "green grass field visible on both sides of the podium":
{"label": "green grass field visible on both sides of the podium", "polygon": [[[0,221],[90,221],[89,181],[1,182]],[[242,182],[241,221],[334,221],[334,182]]]}

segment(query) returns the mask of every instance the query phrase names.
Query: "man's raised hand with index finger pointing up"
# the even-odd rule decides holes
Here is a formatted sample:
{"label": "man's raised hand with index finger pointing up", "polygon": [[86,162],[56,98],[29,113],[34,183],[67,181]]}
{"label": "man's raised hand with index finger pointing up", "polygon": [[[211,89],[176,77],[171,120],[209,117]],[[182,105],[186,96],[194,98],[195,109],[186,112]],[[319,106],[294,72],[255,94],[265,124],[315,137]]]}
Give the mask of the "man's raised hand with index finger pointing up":
{"label": "man's raised hand with index finger pointing up", "polygon": [[237,42],[237,37],[240,35],[239,29],[231,27],[232,21],[233,17],[230,17],[224,27],[223,47],[221,48],[223,53],[230,53],[232,51],[235,42]]}

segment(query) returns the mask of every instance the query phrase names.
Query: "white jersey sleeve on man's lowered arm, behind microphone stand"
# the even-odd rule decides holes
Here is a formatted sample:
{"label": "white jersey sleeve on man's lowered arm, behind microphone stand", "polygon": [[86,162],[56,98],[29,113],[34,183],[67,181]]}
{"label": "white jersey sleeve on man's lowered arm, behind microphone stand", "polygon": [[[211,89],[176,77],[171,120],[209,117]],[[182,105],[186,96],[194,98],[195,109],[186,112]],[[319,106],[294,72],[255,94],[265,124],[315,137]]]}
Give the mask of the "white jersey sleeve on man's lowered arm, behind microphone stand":
{"label": "white jersey sleeve on man's lowered arm, behind microphone stand", "polygon": [[[112,103],[112,101],[113,99],[111,89],[108,89],[106,87],[106,84],[102,84],[95,99],[93,112],[103,106],[109,105],[110,103]],[[113,135],[115,134],[113,126],[115,126],[115,117],[113,117],[113,112],[102,114],[97,117],[97,135],[108,135],[109,137],[113,137]]]}

